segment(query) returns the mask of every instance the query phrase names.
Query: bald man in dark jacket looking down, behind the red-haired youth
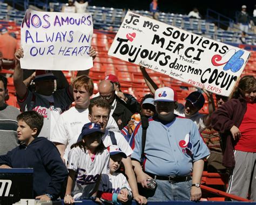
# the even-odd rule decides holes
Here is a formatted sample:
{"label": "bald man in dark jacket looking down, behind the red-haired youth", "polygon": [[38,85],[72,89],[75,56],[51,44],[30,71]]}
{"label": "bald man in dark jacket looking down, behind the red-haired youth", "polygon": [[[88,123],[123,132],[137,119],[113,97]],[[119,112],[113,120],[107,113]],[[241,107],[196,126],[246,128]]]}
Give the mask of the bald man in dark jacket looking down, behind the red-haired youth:
{"label": "bald man in dark jacket looking down, behind the red-haired youth", "polygon": [[110,80],[103,80],[99,83],[99,98],[109,102],[110,115],[117,122],[118,128],[123,129],[130,121],[133,113],[126,107],[126,103],[115,94],[114,85]]}

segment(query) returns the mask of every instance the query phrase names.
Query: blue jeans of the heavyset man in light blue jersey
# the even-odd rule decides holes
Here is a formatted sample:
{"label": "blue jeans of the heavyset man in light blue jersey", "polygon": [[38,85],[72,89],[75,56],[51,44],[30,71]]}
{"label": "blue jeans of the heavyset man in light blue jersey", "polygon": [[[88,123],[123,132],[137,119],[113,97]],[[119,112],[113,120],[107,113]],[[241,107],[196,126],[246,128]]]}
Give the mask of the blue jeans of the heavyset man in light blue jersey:
{"label": "blue jeans of the heavyset man in light blue jersey", "polygon": [[[190,201],[192,180],[170,183],[157,180],[157,189],[151,195],[146,195],[147,201]],[[146,193],[149,193],[147,191]]]}

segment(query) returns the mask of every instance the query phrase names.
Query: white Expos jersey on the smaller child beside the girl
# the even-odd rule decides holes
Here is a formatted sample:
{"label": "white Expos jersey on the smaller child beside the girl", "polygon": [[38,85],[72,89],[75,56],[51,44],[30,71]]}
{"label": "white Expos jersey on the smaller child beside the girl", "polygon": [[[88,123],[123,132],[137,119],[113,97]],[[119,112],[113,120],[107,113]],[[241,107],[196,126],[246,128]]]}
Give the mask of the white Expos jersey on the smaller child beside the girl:
{"label": "white Expos jersey on the smaller child beside the girl", "polygon": [[126,188],[130,192],[132,191],[126,177],[122,173],[102,174],[99,191],[118,194],[123,188]]}

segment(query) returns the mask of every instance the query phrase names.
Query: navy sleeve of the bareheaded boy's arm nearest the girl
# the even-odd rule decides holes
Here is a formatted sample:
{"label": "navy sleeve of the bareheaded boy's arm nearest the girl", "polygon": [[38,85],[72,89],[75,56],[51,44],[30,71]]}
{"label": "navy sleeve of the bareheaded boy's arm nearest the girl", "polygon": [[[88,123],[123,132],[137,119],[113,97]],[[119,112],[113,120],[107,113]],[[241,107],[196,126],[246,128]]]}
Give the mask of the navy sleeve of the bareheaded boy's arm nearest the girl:
{"label": "navy sleeve of the bareheaded boy's arm nearest the girl", "polygon": [[43,164],[51,175],[51,182],[46,188],[46,193],[51,194],[53,199],[57,199],[68,177],[68,169],[60,158],[58,149],[52,142],[48,142],[47,145],[44,145],[44,151],[42,152]]}

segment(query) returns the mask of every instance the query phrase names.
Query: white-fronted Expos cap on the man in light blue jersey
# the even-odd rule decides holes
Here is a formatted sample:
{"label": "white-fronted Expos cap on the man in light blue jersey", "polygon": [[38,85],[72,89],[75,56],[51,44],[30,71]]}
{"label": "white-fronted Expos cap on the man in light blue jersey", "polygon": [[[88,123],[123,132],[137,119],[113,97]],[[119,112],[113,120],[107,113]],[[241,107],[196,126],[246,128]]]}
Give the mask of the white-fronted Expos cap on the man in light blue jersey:
{"label": "white-fronted Expos cap on the man in light blue jersey", "polygon": [[154,101],[176,102],[178,101],[178,95],[170,87],[161,87],[154,93]]}

